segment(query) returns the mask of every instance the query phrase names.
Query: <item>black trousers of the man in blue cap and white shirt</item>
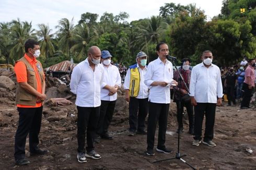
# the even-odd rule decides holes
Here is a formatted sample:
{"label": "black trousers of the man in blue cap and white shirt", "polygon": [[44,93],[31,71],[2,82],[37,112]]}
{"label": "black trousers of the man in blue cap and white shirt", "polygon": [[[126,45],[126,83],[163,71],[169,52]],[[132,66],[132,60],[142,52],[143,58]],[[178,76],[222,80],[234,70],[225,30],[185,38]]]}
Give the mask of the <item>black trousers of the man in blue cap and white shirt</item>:
{"label": "black trousers of the man in blue cap and white shirt", "polygon": [[101,101],[100,117],[97,125],[97,134],[105,135],[108,133],[109,125],[114,114],[115,101]]}

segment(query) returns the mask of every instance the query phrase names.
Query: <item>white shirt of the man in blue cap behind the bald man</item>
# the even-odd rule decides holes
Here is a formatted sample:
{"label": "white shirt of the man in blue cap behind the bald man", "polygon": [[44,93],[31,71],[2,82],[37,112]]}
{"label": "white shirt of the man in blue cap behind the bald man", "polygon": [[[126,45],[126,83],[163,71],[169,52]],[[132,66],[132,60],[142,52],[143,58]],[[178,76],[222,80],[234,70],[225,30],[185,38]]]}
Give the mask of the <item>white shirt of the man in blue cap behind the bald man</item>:
{"label": "white shirt of the man in blue cap behind the bald man", "polygon": [[109,64],[109,67],[104,66],[104,78],[103,83],[101,84],[101,91],[100,91],[100,100],[104,101],[115,101],[118,98],[118,94],[115,93],[114,95],[109,95],[109,90],[104,89],[106,85],[115,86],[118,85],[121,87],[121,76],[117,67]]}

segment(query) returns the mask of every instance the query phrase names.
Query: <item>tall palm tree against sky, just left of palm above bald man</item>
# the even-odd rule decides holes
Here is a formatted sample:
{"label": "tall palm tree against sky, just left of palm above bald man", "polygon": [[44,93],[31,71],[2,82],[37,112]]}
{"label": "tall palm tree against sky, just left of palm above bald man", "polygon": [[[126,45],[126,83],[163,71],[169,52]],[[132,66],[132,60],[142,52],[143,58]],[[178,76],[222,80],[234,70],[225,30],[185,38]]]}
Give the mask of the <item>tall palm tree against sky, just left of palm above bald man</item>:
{"label": "tall palm tree against sky, just left of palm above bald man", "polygon": [[68,57],[70,58],[70,49],[72,46],[72,38],[73,38],[73,31],[74,31],[74,18],[69,21],[67,18],[62,18],[59,21],[59,26],[56,26],[59,29],[59,48],[63,52],[68,53]]}

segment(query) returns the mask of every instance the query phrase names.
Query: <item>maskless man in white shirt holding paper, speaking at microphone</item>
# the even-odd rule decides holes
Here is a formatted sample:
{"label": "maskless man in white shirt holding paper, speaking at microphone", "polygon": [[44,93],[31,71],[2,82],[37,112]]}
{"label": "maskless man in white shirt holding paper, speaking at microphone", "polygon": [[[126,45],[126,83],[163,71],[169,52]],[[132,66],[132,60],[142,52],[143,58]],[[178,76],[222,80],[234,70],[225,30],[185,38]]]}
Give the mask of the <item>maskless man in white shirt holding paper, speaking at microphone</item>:
{"label": "maskless man in white shirt holding paper, speaking at microphone", "polygon": [[149,87],[149,114],[147,124],[147,155],[154,155],[154,141],[158,122],[157,151],[171,153],[165,146],[167,120],[170,105],[170,84],[178,84],[173,80],[172,63],[167,60],[169,48],[166,43],[156,46],[158,58],[148,64],[145,75],[145,84]]}

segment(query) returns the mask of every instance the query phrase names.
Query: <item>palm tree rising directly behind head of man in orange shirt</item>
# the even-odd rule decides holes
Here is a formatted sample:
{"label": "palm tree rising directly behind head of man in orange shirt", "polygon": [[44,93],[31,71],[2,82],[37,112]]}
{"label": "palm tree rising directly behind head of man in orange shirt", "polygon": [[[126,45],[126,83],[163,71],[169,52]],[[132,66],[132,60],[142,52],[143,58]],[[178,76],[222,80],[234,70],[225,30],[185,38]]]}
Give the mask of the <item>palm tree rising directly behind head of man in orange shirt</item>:
{"label": "palm tree rising directly behind head of man in orange shirt", "polygon": [[31,22],[21,22],[19,18],[18,20],[13,20],[11,23],[13,24],[11,30],[13,32],[15,42],[13,48],[10,50],[10,58],[13,59],[14,63],[16,59],[24,55],[25,42],[27,39],[32,38],[34,29],[32,29]]}

